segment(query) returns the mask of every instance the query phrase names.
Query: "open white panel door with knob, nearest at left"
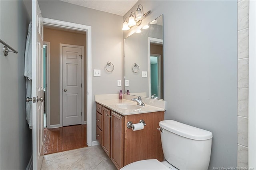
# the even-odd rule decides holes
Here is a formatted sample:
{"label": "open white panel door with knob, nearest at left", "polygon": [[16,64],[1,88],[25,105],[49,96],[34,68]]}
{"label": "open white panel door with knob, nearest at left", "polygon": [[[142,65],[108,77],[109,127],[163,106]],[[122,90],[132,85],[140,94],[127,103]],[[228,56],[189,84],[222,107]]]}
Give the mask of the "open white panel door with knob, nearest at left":
{"label": "open white panel door with knob, nearest at left", "polygon": [[[33,169],[41,168],[44,148],[43,20],[37,0],[32,0],[32,140]],[[42,99],[40,99],[42,97]]]}

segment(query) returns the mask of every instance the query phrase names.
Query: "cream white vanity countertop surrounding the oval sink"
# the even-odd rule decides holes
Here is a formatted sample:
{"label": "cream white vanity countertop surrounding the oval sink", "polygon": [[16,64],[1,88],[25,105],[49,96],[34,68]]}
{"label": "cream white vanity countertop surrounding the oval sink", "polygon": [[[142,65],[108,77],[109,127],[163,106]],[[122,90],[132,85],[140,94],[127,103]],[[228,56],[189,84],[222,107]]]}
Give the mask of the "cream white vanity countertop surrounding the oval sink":
{"label": "cream white vanity countertop surrounding the oval sink", "polygon": [[[132,96],[135,98],[135,96]],[[105,98],[105,97],[104,97]],[[124,103],[131,103],[134,105],[137,105],[137,102],[127,100],[127,99],[116,99],[115,97],[110,97],[108,99],[104,99],[102,97],[95,97],[95,101],[99,103],[100,105],[103,105],[104,107],[108,107],[112,111],[115,111],[119,113],[120,115],[126,116],[126,115],[135,115],[135,114],[140,114],[140,113],[150,113],[150,112],[158,112],[158,111],[165,111],[165,107],[156,107],[152,105],[148,105],[145,103],[145,106],[138,106],[140,108],[138,109],[121,109],[117,107],[116,105],[118,104],[124,104]],[[127,98],[127,97],[126,97]],[[153,99],[154,100],[154,99]],[[143,101],[143,98],[142,98]],[[146,100],[145,100],[146,101]],[[165,102],[165,101],[164,101]]]}

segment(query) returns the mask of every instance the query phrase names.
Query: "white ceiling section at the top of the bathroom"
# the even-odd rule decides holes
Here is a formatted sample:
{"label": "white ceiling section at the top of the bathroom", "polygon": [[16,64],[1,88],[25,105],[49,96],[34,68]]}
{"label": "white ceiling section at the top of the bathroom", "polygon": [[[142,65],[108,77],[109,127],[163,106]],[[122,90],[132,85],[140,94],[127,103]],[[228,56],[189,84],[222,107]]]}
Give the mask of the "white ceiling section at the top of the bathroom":
{"label": "white ceiling section at the top of the bathroom", "polygon": [[124,16],[138,0],[61,0],[70,4]]}

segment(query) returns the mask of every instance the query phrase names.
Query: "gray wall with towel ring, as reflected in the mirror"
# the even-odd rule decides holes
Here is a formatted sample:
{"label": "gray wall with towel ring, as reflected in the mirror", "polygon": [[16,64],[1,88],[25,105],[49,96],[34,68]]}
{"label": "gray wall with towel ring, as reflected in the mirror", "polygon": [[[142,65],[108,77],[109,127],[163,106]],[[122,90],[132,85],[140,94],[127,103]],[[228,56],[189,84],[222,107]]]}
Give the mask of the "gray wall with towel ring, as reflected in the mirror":
{"label": "gray wall with towel ring, as reflected in the mirror", "polygon": [[[150,28],[141,29],[141,33],[134,33],[124,41],[124,58],[125,58],[125,79],[129,80],[129,86],[125,90],[130,93],[147,93],[148,94],[148,77],[142,77],[142,71],[148,73],[148,37],[163,39],[163,27],[159,25],[148,24]],[[133,64],[140,67],[138,73],[132,71]],[[134,71],[137,69],[134,68]],[[140,82],[140,83],[138,83]]]}

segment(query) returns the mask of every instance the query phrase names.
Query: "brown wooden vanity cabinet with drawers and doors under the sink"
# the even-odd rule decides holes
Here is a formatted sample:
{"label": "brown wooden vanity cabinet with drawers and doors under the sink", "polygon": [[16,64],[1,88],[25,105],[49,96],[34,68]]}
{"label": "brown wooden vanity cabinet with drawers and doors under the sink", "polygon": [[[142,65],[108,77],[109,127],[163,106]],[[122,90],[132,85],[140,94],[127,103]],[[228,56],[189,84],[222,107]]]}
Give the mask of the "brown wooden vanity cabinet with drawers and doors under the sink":
{"label": "brown wooden vanity cabinet with drawers and doors under the sink", "polygon": [[[144,120],[143,130],[133,131],[128,122]],[[164,160],[159,122],[164,120],[164,111],[122,115],[108,106],[96,104],[96,138],[116,168],[138,160]]]}

